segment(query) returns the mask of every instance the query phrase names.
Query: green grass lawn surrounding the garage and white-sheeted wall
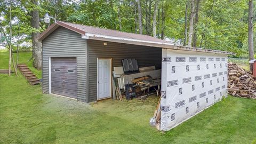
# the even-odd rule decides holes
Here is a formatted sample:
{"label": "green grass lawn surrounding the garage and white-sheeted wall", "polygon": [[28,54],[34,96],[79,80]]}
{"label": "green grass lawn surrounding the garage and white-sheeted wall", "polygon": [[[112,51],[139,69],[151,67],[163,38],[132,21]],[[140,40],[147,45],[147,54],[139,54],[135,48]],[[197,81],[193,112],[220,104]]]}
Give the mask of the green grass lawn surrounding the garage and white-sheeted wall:
{"label": "green grass lawn surrounding the garage and white-sheeted wall", "polygon": [[256,100],[228,97],[166,133],[149,126],[156,105],[155,97],[87,104],[2,74],[0,143],[256,143]]}

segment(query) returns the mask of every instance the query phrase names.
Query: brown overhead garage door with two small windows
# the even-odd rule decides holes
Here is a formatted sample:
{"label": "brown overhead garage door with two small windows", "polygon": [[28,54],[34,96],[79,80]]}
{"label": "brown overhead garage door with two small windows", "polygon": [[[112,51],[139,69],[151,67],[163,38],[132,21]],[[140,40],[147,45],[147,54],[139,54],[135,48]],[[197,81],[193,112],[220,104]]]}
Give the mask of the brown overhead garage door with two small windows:
{"label": "brown overhead garage door with two small windows", "polygon": [[76,58],[51,58],[52,93],[77,98]]}

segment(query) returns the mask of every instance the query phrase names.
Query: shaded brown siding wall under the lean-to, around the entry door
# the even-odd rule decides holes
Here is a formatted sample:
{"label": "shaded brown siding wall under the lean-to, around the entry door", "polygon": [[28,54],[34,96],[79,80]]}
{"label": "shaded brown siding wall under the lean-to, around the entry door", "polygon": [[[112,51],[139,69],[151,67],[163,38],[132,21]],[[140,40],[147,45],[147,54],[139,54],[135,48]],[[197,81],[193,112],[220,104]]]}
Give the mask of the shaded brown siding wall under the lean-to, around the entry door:
{"label": "shaded brown siding wall under the lean-to, around the entry door", "polygon": [[122,66],[122,59],[135,58],[139,67],[162,67],[162,48],[122,44],[89,39],[88,46],[88,101],[97,100],[97,58],[112,58],[112,67]]}

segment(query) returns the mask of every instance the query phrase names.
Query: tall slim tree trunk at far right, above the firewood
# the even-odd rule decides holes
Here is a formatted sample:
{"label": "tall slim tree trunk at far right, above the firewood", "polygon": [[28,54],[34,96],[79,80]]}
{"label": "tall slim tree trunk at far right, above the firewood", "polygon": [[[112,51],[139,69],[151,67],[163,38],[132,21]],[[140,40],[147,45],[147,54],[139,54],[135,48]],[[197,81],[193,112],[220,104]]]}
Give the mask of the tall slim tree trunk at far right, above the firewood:
{"label": "tall slim tree trunk at far right, above the firewood", "polygon": [[[249,13],[248,13],[248,46],[249,46],[249,59],[253,60],[253,1],[249,0]],[[250,70],[253,69],[253,63],[250,63]]]}

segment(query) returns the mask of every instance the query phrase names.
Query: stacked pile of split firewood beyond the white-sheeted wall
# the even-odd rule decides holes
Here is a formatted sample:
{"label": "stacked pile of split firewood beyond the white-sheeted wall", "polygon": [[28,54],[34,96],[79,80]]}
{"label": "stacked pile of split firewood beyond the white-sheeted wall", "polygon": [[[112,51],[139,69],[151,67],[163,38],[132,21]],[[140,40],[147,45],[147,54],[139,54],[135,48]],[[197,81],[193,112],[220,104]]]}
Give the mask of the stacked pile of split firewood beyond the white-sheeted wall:
{"label": "stacked pile of split firewood beyond the white-sheeted wall", "polygon": [[228,93],[235,97],[256,99],[256,77],[236,63],[228,63]]}

